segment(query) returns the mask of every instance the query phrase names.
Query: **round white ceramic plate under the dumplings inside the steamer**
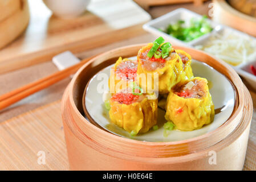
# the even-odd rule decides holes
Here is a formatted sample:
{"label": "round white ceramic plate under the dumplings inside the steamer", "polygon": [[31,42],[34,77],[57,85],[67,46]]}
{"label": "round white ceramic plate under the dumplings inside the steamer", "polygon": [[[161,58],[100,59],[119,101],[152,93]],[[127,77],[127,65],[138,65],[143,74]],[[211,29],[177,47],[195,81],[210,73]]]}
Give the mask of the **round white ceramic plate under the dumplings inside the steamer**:
{"label": "round white ceramic plate under the dumplings inside the steamer", "polygon": [[[136,57],[132,57],[131,59],[136,59]],[[217,129],[230,117],[235,103],[235,92],[230,81],[227,80],[224,75],[217,72],[209,65],[201,63],[200,61],[192,60],[191,66],[194,76],[204,77],[208,81],[212,82],[210,93],[212,94],[214,107],[215,109],[222,107],[221,112],[215,115],[214,121],[209,125],[194,131],[172,130],[170,131],[168,137],[164,137],[163,125],[166,122],[164,118],[165,111],[159,109],[159,118],[157,119],[159,129],[156,131],[149,130],[145,134],[132,137],[132,139],[145,140],[148,142],[171,142],[190,139]],[[108,110],[105,109],[102,99],[103,93],[97,92],[97,86],[99,86],[100,82],[102,83],[102,81],[104,81],[105,84],[108,84],[108,78],[102,79],[103,77],[100,76],[100,73],[105,73],[109,77],[111,67],[113,67],[113,65],[101,70],[94,77],[92,77],[88,83],[85,95],[87,113],[90,114],[90,117],[94,119],[96,123],[109,132],[121,137],[131,138],[131,135],[127,131],[110,122]],[[105,91],[107,92],[108,90]]]}

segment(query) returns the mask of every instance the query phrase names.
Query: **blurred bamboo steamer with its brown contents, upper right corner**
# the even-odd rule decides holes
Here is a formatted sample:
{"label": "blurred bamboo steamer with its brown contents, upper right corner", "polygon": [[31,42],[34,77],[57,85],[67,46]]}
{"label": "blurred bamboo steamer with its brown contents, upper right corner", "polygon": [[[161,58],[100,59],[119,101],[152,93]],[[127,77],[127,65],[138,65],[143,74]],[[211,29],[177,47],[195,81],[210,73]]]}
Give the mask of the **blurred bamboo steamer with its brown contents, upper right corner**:
{"label": "blurred bamboo steamer with its brown contents, upper right corner", "polygon": [[229,0],[229,2],[230,4],[225,0],[213,0],[213,20],[256,36],[256,2],[250,0]]}

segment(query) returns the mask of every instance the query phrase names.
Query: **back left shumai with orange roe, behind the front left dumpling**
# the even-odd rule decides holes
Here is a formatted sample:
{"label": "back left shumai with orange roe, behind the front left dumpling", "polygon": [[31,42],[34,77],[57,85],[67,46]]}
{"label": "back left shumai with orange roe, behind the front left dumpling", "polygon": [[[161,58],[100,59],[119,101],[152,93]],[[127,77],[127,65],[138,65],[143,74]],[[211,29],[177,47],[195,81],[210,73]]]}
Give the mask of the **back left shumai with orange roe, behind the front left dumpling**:
{"label": "back left shumai with orange roe, behind the front left dumpling", "polygon": [[121,89],[127,88],[130,82],[136,80],[137,60],[119,59],[111,68],[108,86],[111,93],[116,93]]}

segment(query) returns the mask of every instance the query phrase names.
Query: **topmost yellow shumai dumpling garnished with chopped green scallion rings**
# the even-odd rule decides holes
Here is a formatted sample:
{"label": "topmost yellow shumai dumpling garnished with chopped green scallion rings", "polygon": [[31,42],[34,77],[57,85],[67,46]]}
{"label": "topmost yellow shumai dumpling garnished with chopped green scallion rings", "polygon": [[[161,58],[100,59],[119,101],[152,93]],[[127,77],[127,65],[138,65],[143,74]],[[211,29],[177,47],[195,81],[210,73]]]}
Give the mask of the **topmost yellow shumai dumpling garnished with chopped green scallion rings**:
{"label": "topmost yellow shumai dumpling garnished with chopped green scallion rings", "polygon": [[153,87],[148,88],[147,85],[149,82],[156,82],[155,75],[158,77],[158,90],[153,90],[161,94],[169,93],[174,85],[186,78],[180,56],[170,43],[164,43],[161,37],[141,48],[137,60],[137,74],[146,78],[146,80],[137,82],[148,92]]}

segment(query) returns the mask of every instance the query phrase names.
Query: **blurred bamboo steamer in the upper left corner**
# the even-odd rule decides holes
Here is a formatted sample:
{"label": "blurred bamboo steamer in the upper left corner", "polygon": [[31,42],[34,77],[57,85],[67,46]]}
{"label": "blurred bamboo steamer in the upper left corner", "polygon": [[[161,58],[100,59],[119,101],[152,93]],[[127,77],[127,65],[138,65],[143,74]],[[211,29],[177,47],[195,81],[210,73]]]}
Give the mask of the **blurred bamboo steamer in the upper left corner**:
{"label": "blurred bamboo steamer in the upper left corner", "polygon": [[0,48],[16,39],[29,24],[27,0],[0,1]]}

